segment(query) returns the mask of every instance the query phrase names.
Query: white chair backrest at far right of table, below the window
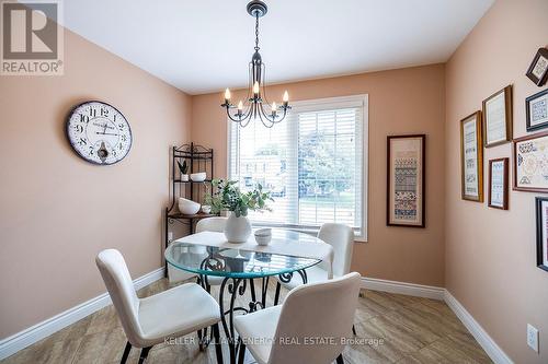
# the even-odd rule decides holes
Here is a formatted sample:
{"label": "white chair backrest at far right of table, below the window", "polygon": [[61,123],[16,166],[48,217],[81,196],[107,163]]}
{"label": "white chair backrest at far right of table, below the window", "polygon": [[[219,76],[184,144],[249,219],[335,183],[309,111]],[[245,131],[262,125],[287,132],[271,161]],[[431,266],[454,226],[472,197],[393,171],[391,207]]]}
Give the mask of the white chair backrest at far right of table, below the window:
{"label": "white chair backrest at far right of table, below the window", "polygon": [[343,224],[326,223],[320,227],[318,238],[333,247],[333,274],[350,272],[354,250],[354,231]]}

